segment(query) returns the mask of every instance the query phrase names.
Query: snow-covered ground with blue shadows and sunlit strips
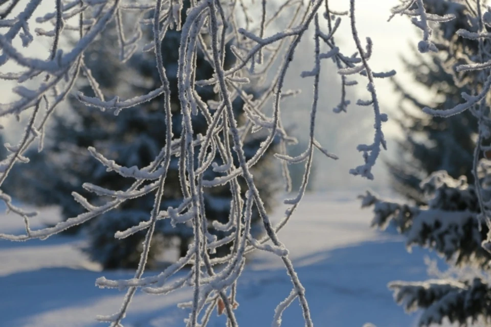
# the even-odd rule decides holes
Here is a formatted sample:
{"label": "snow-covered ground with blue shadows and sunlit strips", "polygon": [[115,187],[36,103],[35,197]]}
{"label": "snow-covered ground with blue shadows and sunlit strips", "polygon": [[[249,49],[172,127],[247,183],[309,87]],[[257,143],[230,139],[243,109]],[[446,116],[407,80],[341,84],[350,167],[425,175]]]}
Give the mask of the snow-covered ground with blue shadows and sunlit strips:
{"label": "snow-covered ground with blue shadows and sunlit strips", "polygon": [[[306,289],[314,323],[320,327],[361,327],[366,322],[377,327],[414,326],[416,315],[405,314],[386,285],[395,279],[427,278],[423,257],[428,253],[419,249],[407,253],[401,237],[371,230],[371,212],[361,210],[355,196],[307,195],[279,235]],[[275,219],[283,209],[277,209]],[[57,215],[56,209],[43,211],[38,226],[56,220]],[[22,223],[3,216],[0,229],[21,233]],[[0,240],[0,326],[100,325],[96,315],[119,308],[124,293],[99,289],[95,279],[101,275],[129,278],[132,273],[99,271],[77,249],[81,242],[73,237],[25,243]],[[278,258],[253,256],[238,286],[239,324],[270,326],[276,305],[291,288]],[[188,289],[168,296],[138,292],[125,326],[182,326],[188,313],[176,308],[176,303],[190,298]],[[209,326],[224,326],[224,321],[224,316],[214,315]],[[283,326],[303,326],[298,301],[284,313]]]}

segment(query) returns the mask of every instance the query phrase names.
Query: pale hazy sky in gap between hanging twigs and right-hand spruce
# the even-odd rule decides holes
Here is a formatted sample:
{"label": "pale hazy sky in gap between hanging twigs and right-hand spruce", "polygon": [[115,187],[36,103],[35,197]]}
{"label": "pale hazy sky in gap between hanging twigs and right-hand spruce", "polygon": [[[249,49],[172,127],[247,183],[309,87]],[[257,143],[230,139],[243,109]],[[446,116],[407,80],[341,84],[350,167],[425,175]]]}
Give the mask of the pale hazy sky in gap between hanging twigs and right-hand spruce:
{"label": "pale hazy sky in gap between hanging twigs and right-hand spruce", "polygon": [[[370,67],[374,72],[384,72],[395,69],[397,79],[403,83],[410,83],[411,91],[417,92],[419,96],[426,91],[419,89],[411,81],[410,76],[404,72],[399,61],[399,56],[409,51],[409,41],[417,42],[420,34],[412,26],[407,17],[394,17],[390,22],[387,19],[390,15],[390,8],[397,4],[397,0],[358,0],[356,2],[356,26],[362,42],[369,36],[373,41],[373,54],[369,61]],[[345,11],[349,8],[347,0],[329,0],[333,10]],[[343,53],[349,55],[354,52],[354,41],[351,37],[351,30],[347,17],[342,20],[340,30],[336,34],[337,45]],[[310,37],[311,39],[311,37]],[[298,75],[303,70],[311,69],[313,60],[313,50],[307,50],[306,46],[300,45],[302,51],[296,54],[298,61],[294,59],[291,68],[292,74],[289,84],[292,88],[301,88],[302,93],[297,99],[288,100],[284,104],[283,119],[295,122],[299,125],[298,134],[302,137],[308,128],[308,116],[311,101],[311,81],[300,79]],[[298,57],[301,57],[300,59]],[[297,67],[297,65],[299,67]],[[332,107],[338,103],[339,99],[339,76],[333,70],[333,65],[329,68],[329,63],[322,64],[323,76],[321,77],[321,94],[318,108],[318,124],[316,128],[317,139],[340,159],[333,161],[321,156],[317,157],[318,166],[315,177],[316,188],[318,189],[367,189],[388,187],[388,175],[383,157],[390,156],[395,149],[393,137],[400,135],[400,131],[391,123],[391,116],[396,114],[398,96],[394,93],[393,87],[388,79],[376,79],[375,85],[377,96],[381,102],[382,112],[389,115],[389,122],[383,125],[383,131],[388,141],[388,151],[383,151],[378,159],[373,173],[374,181],[368,181],[358,176],[348,174],[350,168],[363,164],[361,153],[356,150],[358,144],[371,144],[373,140],[373,110],[371,107],[359,107],[351,104],[348,112],[333,114]],[[296,74],[296,75],[294,75]],[[354,87],[354,93],[362,99],[368,99],[366,90],[366,79],[356,78],[359,81],[358,87]],[[351,103],[358,99],[352,95]]]}

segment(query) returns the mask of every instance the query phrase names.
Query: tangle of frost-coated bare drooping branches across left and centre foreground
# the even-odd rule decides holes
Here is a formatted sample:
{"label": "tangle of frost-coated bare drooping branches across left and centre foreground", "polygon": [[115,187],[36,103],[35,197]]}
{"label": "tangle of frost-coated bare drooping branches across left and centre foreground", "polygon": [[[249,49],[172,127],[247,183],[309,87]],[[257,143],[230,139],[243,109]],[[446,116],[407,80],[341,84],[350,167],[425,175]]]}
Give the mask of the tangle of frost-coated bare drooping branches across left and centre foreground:
{"label": "tangle of frost-coated bare drooping branches across left and centre foreground", "polygon": [[[373,179],[371,169],[382,149],[386,148],[382,123],[387,120],[387,116],[381,113],[375,79],[392,76],[395,72],[376,73],[369,65],[372,43],[367,38],[366,47],[362,46],[355,24],[355,1],[350,0],[347,11],[334,11],[329,7],[328,0],[313,0],[306,5],[295,0],[281,4],[270,4],[265,0],[257,4],[248,0],[56,0],[52,12],[36,19],[38,23],[53,25],[51,31],[36,29],[36,37],[52,39],[48,58],[41,60],[19,49],[13,40],[17,36],[20,37],[25,46],[32,42],[34,36],[29,31],[34,22],[31,22],[31,18],[42,1],[30,0],[15,19],[10,19],[7,17],[10,17],[12,10],[18,6],[18,1],[9,3],[0,0],[0,8],[5,7],[0,14],[0,29],[6,30],[5,33],[0,33],[0,65],[6,67],[3,64],[10,61],[23,69],[20,73],[0,72],[1,79],[17,82],[13,91],[19,97],[9,103],[0,104],[0,116],[8,117],[29,112],[26,129],[18,145],[7,145],[7,150],[11,153],[0,162],[0,186],[15,164],[28,161],[24,154],[35,141],[39,142],[39,149],[42,148],[44,134],[49,133],[46,126],[50,116],[61,107],[60,104],[64,103],[66,97],[72,94],[90,110],[110,110],[116,115],[123,110],[138,110],[135,107],[159,99],[162,104],[159,110],[162,110],[165,116],[163,128],[166,131],[165,136],[162,136],[165,137],[165,146],[146,167],[125,167],[111,158],[110,154],[103,154],[97,146],[88,148],[87,153],[98,160],[107,171],[133,182],[124,190],[110,190],[101,185],[83,183],[83,188],[100,196],[100,201],[97,201],[97,205],[92,204],[74,192],[74,199],[86,212],[52,227],[31,229],[29,219],[33,213],[15,207],[9,195],[0,193],[0,200],[19,215],[26,226],[26,233],[0,233],[0,238],[12,241],[45,239],[107,213],[129,199],[152,194],[153,208],[148,213],[148,219],[115,234],[115,238],[124,239],[145,230],[142,253],[133,278],[97,279],[96,284],[101,288],[126,290],[120,310],[109,316],[99,316],[99,320],[110,322],[114,327],[122,326],[131,300],[139,288],[149,294],[164,295],[183,287],[191,287],[192,300],[180,303],[180,307],[189,310],[186,319],[189,327],[206,325],[214,308],[217,308],[219,313],[225,313],[228,326],[237,327],[240,323],[234,314],[238,306],[237,281],[244,269],[245,255],[259,250],[269,251],[278,256],[292,281],[292,292],[279,303],[276,311],[272,312],[273,324],[281,324],[283,312],[298,298],[305,325],[313,326],[306,291],[292,261],[288,258],[288,250],[278,237],[278,232],[292,219],[305,194],[317,150],[331,159],[338,158],[328,152],[315,135],[318,126],[316,120],[320,105],[319,94],[322,91],[321,65],[324,62],[331,60],[336,64],[342,84],[341,102],[334,108],[334,112],[342,114],[348,110],[347,88],[356,84],[356,80],[350,77],[361,75],[368,80],[370,99],[359,100],[357,104],[373,108],[374,141],[370,145],[358,146],[359,151],[363,153],[365,164],[352,169],[351,174]],[[413,3],[404,3],[393,11],[393,14],[412,15],[410,7]],[[419,0],[417,4],[422,4],[422,1]],[[423,41],[431,48],[431,29],[428,22],[441,22],[449,17],[434,17],[426,14],[422,5],[419,8],[417,15],[420,20],[417,25],[423,30]],[[256,13],[260,13],[260,19],[254,23],[252,17]],[[78,26],[75,26],[72,25],[72,17],[77,15],[79,21]],[[337,45],[342,43],[335,40],[343,19],[349,20],[352,39],[356,45],[355,54],[345,55],[341,46]],[[275,31],[277,21],[283,21],[283,30]],[[146,44],[142,39],[144,27],[153,33],[151,40],[147,40]],[[107,28],[115,29],[115,42],[119,46],[117,57],[121,65],[136,53],[153,51],[155,71],[160,85],[156,85],[146,94],[129,99],[123,98],[122,94],[117,94],[112,99],[104,95],[95,77],[97,74],[93,74],[84,61],[84,54]],[[162,53],[163,39],[170,30],[180,31],[175,95],[171,94],[172,87],[164,68],[166,56]],[[62,37],[69,36],[74,31],[79,33],[78,41],[68,51],[62,51],[59,45]],[[308,145],[300,155],[293,157],[288,155],[288,147],[297,140],[288,135],[282,121],[281,108],[282,100],[296,93],[285,90],[284,84],[286,74],[299,51],[300,42],[312,35],[314,42],[310,45],[314,65],[310,71],[303,72],[300,76],[305,79],[313,78],[313,98],[308,118],[309,129],[306,133]],[[324,48],[327,49],[326,52],[322,52]],[[231,66],[225,64],[226,54],[229,52],[235,57]],[[207,80],[196,80],[196,72],[199,69],[198,56],[204,58],[213,70],[211,78]],[[75,92],[80,71],[84,73],[94,96]],[[31,83],[29,87],[26,86],[27,81],[37,76],[44,79],[37,84]],[[216,92],[215,101],[205,102],[199,96],[197,87],[207,85]],[[261,91],[252,97],[251,88]],[[182,126],[178,126],[182,129],[180,137],[175,137],[172,133],[172,97],[178,99],[178,110],[182,114]],[[241,118],[240,121],[233,105],[235,100],[243,102],[244,119]],[[46,104],[46,112],[42,117],[41,104]],[[203,135],[195,133],[194,116],[197,114],[202,115],[206,121],[206,132]],[[264,133],[264,141],[254,153],[246,157],[244,144],[257,132]],[[293,197],[284,199],[289,208],[276,225],[266,212],[256,185],[257,180],[253,176],[255,166],[268,151],[276,152],[287,191],[291,189],[287,166],[305,163],[300,189]],[[175,207],[163,207],[162,197],[164,190],[169,188],[167,177],[172,157],[178,158],[177,177],[181,190],[176,192],[181,191],[183,197]],[[206,172],[210,170],[220,174],[214,179],[206,179]],[[245,184],[241,184],[240,180],[245,181]],[[210,223],[205,210],[204,190],[224,185],[230,189],[231,194],[229,221]],[[241,192],[241,188],[247,188],[245,194]],[[265,236],[262,238],[256,239],[252,235],[253,211],[258,212],[262,221],[265,230]],[[157,275],[143,277],[155,225],[165,219],[168,219],[173,227],[178,224],[192,226],[193,242],[183,258]],[[223,232],[225,237],[217,239],[211,230]],[[230,253],[213,258],[212,254],[220,246],[229,247]],[[190,267],[187,273],[171,278],[186,266]]]}

